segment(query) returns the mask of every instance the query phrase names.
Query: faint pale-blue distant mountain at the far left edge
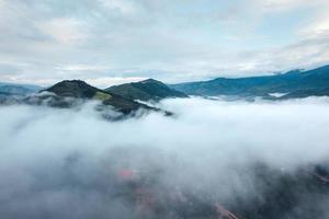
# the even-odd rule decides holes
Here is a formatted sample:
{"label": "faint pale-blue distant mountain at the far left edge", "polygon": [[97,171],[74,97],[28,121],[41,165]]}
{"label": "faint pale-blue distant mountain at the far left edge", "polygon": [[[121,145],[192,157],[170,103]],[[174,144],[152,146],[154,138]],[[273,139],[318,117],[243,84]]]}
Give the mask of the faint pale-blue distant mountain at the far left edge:
{"label": "faint pale-blue distant mountain at the far left edge", "polygon": [[30,84],[0,83],[1,95],[29,95],[39,91],[42,88]]}

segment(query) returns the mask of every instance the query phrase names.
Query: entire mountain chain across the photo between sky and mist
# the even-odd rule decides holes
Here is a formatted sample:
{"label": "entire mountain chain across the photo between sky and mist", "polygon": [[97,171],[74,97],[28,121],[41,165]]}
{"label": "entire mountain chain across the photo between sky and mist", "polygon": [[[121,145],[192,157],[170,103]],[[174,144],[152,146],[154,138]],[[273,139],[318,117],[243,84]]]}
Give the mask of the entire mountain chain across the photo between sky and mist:
{"label": "entire mountain chain across the photo between sky and mist", "polygon": [[168,97],[237,96],[286,100],[329,95],[329,66],[313,70],[293,70],[282,74],[217,78],[209,81],[167,85],[154,79],[110,87],[94,88],[80,80],[65,80],[48,89],[36,85],[0,83],[0,104],[27,103],[55,107],[71,107],[84,100],[99,100],[104,106],[131,114],[139,108],[160,111],[136,101],[158,102]]}

